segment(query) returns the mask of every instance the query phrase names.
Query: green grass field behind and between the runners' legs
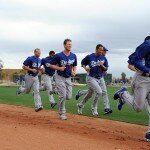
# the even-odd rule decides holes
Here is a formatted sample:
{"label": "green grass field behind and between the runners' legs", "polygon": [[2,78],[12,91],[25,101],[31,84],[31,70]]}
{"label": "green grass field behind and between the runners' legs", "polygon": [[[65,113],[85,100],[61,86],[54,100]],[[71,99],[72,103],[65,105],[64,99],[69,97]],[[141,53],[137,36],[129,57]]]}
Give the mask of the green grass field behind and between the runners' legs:
{"label": "green grass field behind and between the runners' legs", "polygon": [[[16,96],[15,91],[17,87],[0,87],[0,103],[3,104],[10,104],[10,105],[19,105],[19,106],[27,106],[27,107],[34,107],[33,103],[33,97],[32,94],[23,94],[20,96]],[[75,94],[78,89],[86,89],[86,87],[83,86],[75,86],[73,88],[73,97],[71,100],[66,102],[66,108],[67,112],[77,114],[77,102],[75,100]],[[100,99],[99,102],[99,114],[100,118],[105,119],[111,119],[111,120],[119,120],[123,122],[129,122],[134,124],[141,124],[141,125],[147,125],[148,123],[148,116],[146,111],[143,111],[141,113],[136,113],[127,105],[124,105],[122,111],[117,110],[117,102],[113,100],[113,93],[118,90],[116,87],[109,87],[108,93],[109,93],[109,99],[111,103],[111,107],[113,109],[113,113],[109,115],[104,115],[104,107],[103,107],[103,100]],[[44,109],[50,109],[49,102],[48,102],[48,96],[47,92],[41,92],[42,102]],[[58,101],[58,96],[55,95],[56,101]],[[79,99],[79,101],[81,98]],[[87,102],[87,105],[84,108],[83,114],[85,116],[91,116],[91,101],[92,99]],[[57,107],[54,109],[57,110]]]}

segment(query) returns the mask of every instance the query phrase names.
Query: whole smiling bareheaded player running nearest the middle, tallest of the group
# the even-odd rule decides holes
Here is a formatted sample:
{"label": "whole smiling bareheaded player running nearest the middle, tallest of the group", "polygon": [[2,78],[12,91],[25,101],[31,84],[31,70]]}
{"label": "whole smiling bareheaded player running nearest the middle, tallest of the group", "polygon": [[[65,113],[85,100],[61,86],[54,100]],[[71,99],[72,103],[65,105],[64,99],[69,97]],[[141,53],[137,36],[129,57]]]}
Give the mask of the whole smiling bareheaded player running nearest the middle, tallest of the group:
{"label": "whole smiling bareheaded player running nearest the middle, tallest of the group", "polygon": [[51,68],[57,70],[55,80],[59,95],[59,115],[60,119],[66,120],[65,101],[71,99],[72,83],[71,76],[76,75],[77,57],[71,52],[72,41],[64,41],[64,51],[55,55]]}

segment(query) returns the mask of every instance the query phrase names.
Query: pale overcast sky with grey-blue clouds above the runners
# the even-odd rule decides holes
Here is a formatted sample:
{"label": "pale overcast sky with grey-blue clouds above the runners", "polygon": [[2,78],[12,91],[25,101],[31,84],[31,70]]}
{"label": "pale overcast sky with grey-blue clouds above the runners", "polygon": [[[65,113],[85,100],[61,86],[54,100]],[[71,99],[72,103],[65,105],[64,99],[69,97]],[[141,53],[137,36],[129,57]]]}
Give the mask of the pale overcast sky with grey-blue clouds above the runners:
{"label": "pale overcast sky with grey-blue clouds above the runners", "polygon": [[98,43],[109,49],[109,72],[126,72],[127,58],[150,34],[150,0],[0,0],[0,59],[5,68],[21,68],[38,47],[63,50],[73,41],[81,59]]}

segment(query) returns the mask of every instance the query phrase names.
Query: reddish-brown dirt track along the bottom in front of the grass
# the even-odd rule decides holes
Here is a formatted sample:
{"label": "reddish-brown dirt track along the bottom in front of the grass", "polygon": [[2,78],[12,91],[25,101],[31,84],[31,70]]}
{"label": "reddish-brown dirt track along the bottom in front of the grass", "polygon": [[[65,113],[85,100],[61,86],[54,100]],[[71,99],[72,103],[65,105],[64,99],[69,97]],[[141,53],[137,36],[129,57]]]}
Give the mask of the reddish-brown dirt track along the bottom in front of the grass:
{"label": "reddish-brown dirt track along the bottom in front of the grass", "polygon": [[150,150],[146,127],[0,104],[0,150]]}

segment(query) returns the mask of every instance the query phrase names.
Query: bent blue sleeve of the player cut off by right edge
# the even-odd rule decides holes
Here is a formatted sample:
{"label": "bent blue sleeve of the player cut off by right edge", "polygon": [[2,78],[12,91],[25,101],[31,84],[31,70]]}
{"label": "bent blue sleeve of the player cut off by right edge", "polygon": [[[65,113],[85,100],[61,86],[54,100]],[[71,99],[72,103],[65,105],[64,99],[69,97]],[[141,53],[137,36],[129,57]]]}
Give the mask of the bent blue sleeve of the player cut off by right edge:
{"label": "bent blue sleeve of the player cut off by right edge", "polygon": [[140,71],[143,71],[145,73],[149,73],[150,72],[150,68],[146,67],[143,64],[143,59],[145,59],[146,55],[149,52],[149,49],[150,49],[150,47],[147,46],[147,45],[145,45],[142,48],[138,48],[136,50],[136,53],[135,53],[135,59],[136,59],[136,61],[135,61],[135,67],[137,69],[139,69]]}

